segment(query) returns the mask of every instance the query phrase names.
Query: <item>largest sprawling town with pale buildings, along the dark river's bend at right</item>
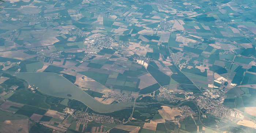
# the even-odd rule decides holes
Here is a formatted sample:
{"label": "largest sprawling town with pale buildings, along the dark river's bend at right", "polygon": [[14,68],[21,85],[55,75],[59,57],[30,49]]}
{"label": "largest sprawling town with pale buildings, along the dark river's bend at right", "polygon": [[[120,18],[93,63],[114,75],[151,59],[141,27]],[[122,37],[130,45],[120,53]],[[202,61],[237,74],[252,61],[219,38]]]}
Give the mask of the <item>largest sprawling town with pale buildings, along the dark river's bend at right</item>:
{"label": "largest sprawling town with pale buildings, along the dark river's bend at right", "polygon": [[[176,96],[180,94],[184,94],[185,98],[180,98]],[[193,92],[184,92],[184,91],[173,92],[173,91],[167,90],[166,88],[162,88],[162,92],[157,97],[166,98],[170,102],[177,102],[177,101],[184,101],[184,100],[193,101],[197,104],[200,110],[204,110],[204,113],[210,114],[218,118],[229,119],[230,121],[233,121],[233,122],[238,122],[244,118],[244,116],[241,113],[234,111],[222,104],[223,99],[225,99],[225,95],[223,91],[222,93],[221,91],[215,91],[215,93],[204,92],[203,94],[204,96],[197,96],[193,94]],[[218,95],[218,97],[216,97],[216,95]],[[219,99],[216,99],[216,98],[219,98]],[[186,113],[184,114],[187,114],[188,112],[188,115],[189,115],[190,114],[189,112],[191,111],[185,111],[185,112]],[[181,118],[183,118],[183,116]]]}

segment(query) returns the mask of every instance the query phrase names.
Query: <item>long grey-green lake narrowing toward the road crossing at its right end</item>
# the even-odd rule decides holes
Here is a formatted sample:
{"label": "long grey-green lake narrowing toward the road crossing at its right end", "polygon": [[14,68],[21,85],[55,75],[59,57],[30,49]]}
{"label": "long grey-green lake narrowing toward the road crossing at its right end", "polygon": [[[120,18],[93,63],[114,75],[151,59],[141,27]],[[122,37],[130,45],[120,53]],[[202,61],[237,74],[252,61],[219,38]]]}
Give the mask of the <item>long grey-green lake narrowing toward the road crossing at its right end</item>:
{"label": "long grey-green lake narrowing toward the road crossing at its right end", "polygon": [[[81,90],[69,80],[60,76],[57,73],[46,72],[20,72],[17,74],[20,79],[26,80],[30,86],[38,87],[40,92],[48,95],[71,98],[79,100],[90,107],[92,110],[99,113],[110,113],[122,109],[132,108],[134,102],[103,104],[95,100],[89,94]],[[71,97],[67,96],[68,94]]]}

